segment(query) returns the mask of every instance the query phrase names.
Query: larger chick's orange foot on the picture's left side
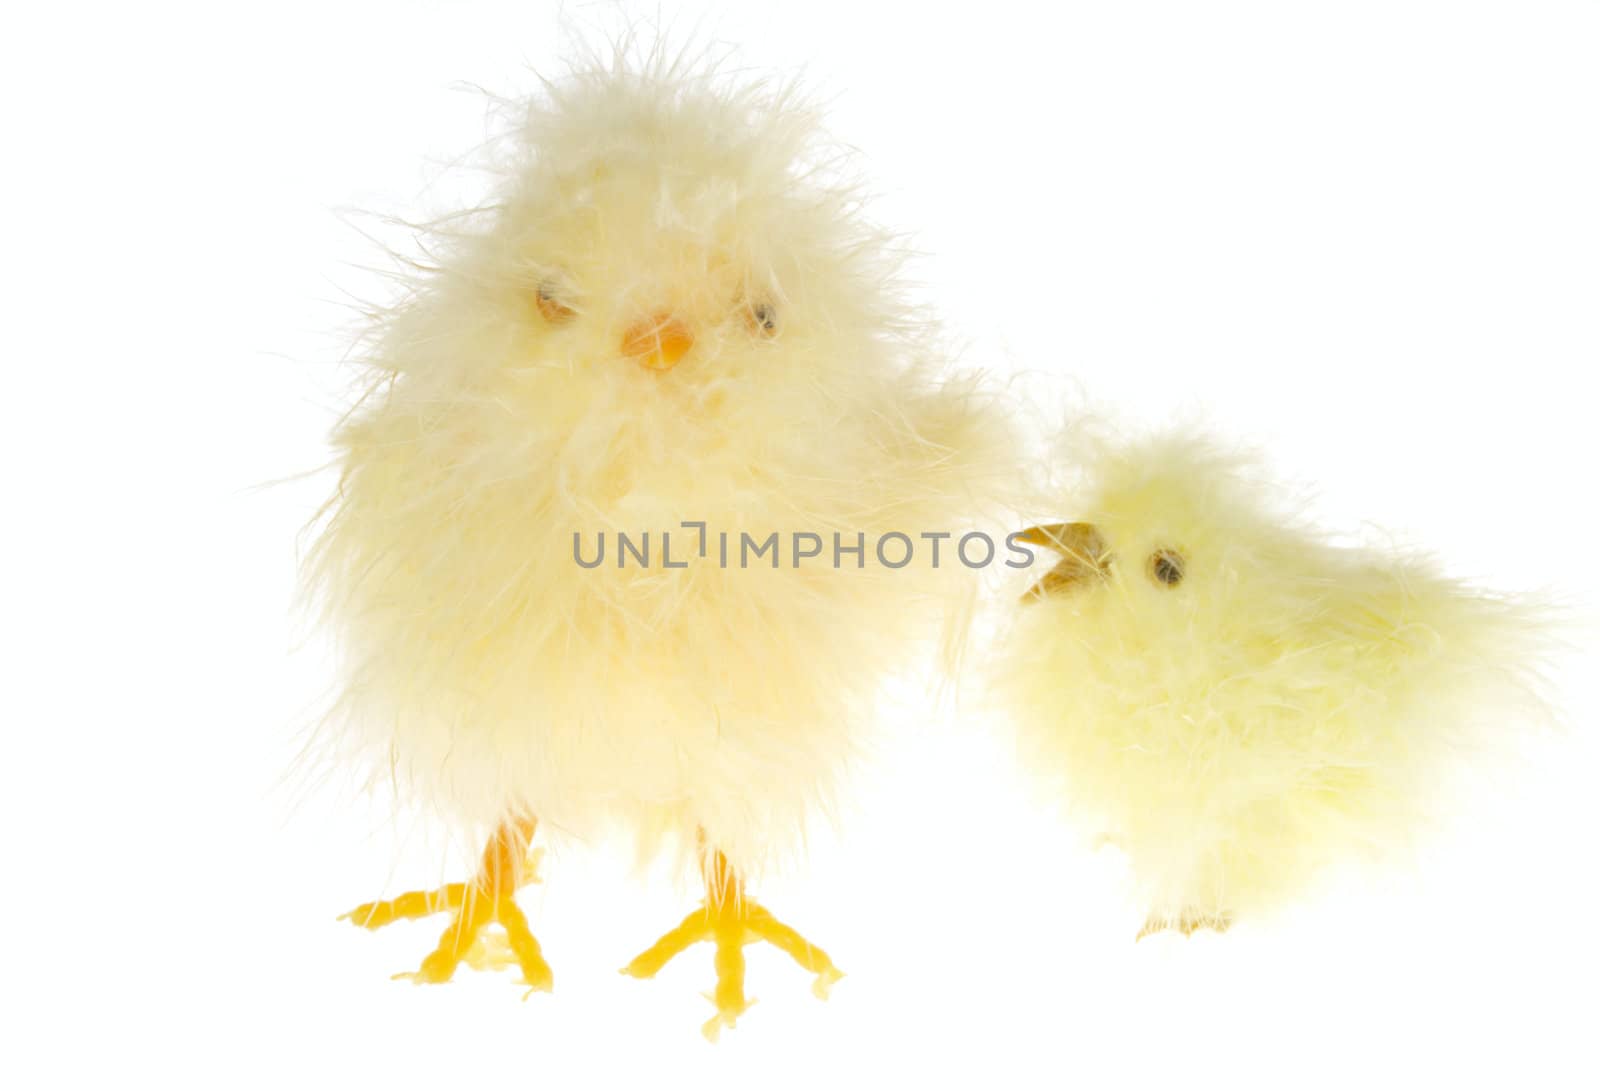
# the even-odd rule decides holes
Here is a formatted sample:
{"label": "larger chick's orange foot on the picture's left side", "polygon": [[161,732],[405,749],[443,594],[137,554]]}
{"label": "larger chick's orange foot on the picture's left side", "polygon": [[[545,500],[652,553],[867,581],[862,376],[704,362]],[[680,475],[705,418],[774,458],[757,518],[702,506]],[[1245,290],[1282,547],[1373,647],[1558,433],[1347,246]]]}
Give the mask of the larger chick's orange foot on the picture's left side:
{"label": "larger chick's orange foot on the picture's left side", "polygon": [[[530,995],[550,992],[555,977],[515,901],[520,886],[538,881],[538,853],[528,853],[533,829],[533,819],[501,825],[483,849],[483,864],[470,883],[450,883],[435,891],[411,891],[387,902],[366,902],[339,920],[378,929],[397,920],[418,920],[448,909],[454,915],[440,936],[438,947],[414,973],[395,974],[397,981],[440,984],[450,981],[462,961],[474,969],[515,965],[522,968],[522,984],[528,985]],[[486,933],[490,925],[499,925],[504,937]]]}

